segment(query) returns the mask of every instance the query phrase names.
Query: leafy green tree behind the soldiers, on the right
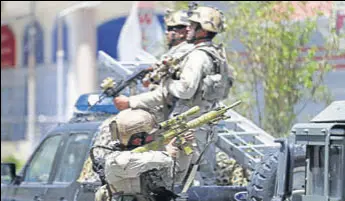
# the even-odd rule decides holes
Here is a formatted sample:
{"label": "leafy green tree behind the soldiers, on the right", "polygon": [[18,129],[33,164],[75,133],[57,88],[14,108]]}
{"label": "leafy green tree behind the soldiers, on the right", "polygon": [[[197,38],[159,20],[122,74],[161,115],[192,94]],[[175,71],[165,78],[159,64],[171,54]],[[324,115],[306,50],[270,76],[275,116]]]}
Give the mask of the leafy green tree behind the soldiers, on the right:
{"label": "leafy green tree behind the soldiers, on the right", "polygon": [[[332,69],[327,58],[338,51],[337,37],[332,32],[324,45],[322,61],[316,61],[317,48],[304,47],[316,31],[317,16],[292,21],[295,10],[289,2],[226,3],[231,6],[224,13],[227,30],[217,39],[227,45],[238,40],[245,47],[245,53],[228,48],[228,60],[235,76],[229,101],[242,99],[244,104],[238,111],[253,118],[256,110],[259,126],[274,136],[286,135],[307,102],[331,101],[323,81]],[[307,6],[305,2],[299,4]],[[187,5],[186,1],[177,2],[176,8],[187,8]],[[259,91],[263,91],[263,106],[259,104]],[[297,104],[301,106],[296,109]]]}

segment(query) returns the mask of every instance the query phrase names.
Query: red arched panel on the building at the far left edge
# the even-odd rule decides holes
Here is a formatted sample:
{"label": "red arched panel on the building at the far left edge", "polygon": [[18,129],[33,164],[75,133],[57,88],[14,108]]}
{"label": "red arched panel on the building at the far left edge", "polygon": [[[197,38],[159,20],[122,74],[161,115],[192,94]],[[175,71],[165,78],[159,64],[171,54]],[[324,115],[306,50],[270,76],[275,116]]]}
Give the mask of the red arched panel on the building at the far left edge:
{"label": "red arched panel on the building at the far left edge", "polygon": [[14,68],[16,63],[16,42],[8,25],[1,26],[1,69]]}

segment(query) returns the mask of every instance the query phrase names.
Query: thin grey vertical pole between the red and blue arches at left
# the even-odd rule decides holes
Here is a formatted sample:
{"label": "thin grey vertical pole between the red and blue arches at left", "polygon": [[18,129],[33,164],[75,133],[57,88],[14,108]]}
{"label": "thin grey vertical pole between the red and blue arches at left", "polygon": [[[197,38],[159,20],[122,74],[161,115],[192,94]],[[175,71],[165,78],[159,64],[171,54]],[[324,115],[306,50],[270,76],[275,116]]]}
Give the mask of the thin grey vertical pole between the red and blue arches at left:
{"label": "thin grey vertical pole between the red and blue arches at left", "polygon": [[27,136],[30,152],[36,141],[36,1],[31,1],[31,25],[29,27],[28,49],[28,124]]}

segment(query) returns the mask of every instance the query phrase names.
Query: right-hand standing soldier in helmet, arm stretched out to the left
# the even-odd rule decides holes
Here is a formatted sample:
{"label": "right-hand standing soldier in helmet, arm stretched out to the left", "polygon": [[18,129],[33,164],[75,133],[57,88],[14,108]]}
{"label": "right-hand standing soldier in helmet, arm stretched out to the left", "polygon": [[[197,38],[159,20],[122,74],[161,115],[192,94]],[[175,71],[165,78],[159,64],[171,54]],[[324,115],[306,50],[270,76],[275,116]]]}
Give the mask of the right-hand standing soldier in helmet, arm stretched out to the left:
{"label": "right-hand standing soldier in helmet, arm stretched out to the left", "polygon": [[[180,65],[179,79],[168,78],[161,81],[160,86],[152,92],[143,93],[132,97],[117,97],[114,103],[118,109],[130,108],[155,108],[163,105],[167,108],[164,113],[170,116],[187,111],[193,106],[199,106],[201,112],[207,112],[215,108],[221,99],[216,94],[207,94],[210,87],[219,86],[224,89],[224,85],[205,86],[207,75],[213,74],[215,65],[214,57],[226,60],[224,51],[219,54],[218,49],[213,45],[212,39],[217,33],[224,29],[223,14],[214,8],[197,7],[190,12],[190,26],[188,26],[187,41],[194,44],[194,48],[186,55]],[[210,56],[213,55],[213,56]],[[215,81],[216,82],[216,81]],[[168,111],[168,112],[166,112]],[[193,118],[193,117],[192,117]],[[196,141],[199,152],[206,148],[204,160],[200,164],[202,184],[215,184],[216,158],[215,145],[216,132],[210,132],[209,126],[196,131]],[[210,135],[211,134],[211,135]]]}

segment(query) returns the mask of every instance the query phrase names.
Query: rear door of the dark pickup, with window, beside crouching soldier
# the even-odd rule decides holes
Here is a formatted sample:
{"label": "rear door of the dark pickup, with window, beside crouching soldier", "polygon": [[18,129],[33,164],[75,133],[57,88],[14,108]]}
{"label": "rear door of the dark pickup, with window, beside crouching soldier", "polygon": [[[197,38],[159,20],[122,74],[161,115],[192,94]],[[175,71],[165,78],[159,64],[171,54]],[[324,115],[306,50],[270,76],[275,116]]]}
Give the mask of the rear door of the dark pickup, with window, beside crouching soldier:
{"label": "rear door of the dark pickup, with window, beside crouching soldier", "polygon": [[[80,194],[80,184],[76,180],[88,156],[92,133],[75,132],[66,136],[66,143],[57,159],[52,182],[48,185],[46,201],[75,200]],[[89,198],[94,199],[93,196]]]}

